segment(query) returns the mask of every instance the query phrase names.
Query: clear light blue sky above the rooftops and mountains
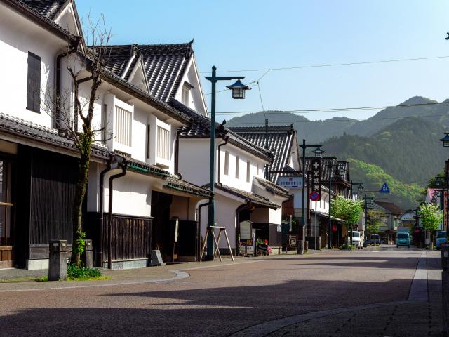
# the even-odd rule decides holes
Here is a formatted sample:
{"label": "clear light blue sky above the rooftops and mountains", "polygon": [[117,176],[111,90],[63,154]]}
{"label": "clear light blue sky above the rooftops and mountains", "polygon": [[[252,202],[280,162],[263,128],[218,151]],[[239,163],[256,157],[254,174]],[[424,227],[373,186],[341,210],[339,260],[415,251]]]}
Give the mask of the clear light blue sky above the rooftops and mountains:
{"label": "clear light blue sky above the rooftops and mountains", "polygon": [[[444,0],[76,0],[83,20],[105,15],[112,44],[194,39],[201,72],[257,70],[449,55]],[[230,74],[258,79],[264,71]],[[229,74],[227,74],[229,75]],[[206,74],[201,74],[206,76]],[[396,105],[414,96],[449,98],[449,58],[270,71],[260,80],[265,110]],[[220,88],[230,83],[220,84]],[[257,86],[246,100],[217,94],[217,112],[262,110]],[[205,93],[210,85],[203,80]],[[206,96],[210,100],[210,96]],[[304,114],[366,119],[376,110]],[[231,114],[217,116],[229,119]]]}

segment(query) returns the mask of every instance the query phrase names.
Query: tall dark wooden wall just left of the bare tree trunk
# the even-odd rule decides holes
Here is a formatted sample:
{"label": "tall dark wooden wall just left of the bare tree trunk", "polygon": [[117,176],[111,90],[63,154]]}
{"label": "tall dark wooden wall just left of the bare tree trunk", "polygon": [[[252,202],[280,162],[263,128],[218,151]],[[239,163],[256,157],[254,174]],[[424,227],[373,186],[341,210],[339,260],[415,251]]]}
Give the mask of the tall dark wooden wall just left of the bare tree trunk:
{"label": "tall dark wooden wall just left of the bare tree trunk", "polygon": [[17,156],[15,263],[48,258],[51,239],[72,244],[72,204],[78,160],[20,145]]}

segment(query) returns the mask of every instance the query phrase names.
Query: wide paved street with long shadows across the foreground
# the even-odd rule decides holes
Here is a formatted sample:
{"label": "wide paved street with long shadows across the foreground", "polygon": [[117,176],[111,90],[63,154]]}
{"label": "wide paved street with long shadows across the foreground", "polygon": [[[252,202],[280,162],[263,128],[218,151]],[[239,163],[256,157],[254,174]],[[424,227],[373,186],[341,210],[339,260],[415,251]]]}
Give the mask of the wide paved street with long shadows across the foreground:
{"label": "wide paved street with long shadows across the foreground", "polygon": [[439,268],[382,246],[1,283],[0,336],[440,336]]}

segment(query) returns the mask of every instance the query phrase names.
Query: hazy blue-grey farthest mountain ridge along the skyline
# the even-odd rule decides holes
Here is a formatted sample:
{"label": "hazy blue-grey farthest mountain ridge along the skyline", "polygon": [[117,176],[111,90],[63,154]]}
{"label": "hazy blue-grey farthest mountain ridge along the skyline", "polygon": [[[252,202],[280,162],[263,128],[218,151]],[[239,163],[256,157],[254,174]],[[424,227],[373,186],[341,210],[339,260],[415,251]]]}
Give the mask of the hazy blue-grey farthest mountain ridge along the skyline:
{"label": "hazy blue-grey farthest mountain ridge along the skyline", "polygon": [[394,124],[399,119],[421,117],[426,121],[433,121],[443,126],[449,126],[449,100],[443,104],[436,104],[435,100],[415,96],[396,107],[387,107],[377,112],[373,117],[358,121],[348,117],[334,117],[331,119],[310,121],[304,116],[291,112],[267,111],[246,114],[230,119],[229,126],[264,125],[265,114],[269,125],[292,124],[300,139],[305,138],[309,143],[324,142],[333,136],[343,136],[344,133],[358,136],[372,136],[386,126]]}

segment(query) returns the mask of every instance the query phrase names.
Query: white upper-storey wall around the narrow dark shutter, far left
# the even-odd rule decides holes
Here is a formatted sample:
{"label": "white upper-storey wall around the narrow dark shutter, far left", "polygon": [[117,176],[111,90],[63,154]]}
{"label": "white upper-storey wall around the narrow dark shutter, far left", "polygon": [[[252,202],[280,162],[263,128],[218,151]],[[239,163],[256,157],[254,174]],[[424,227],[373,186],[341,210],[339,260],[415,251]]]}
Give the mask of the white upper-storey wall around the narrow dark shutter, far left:
{"label": "white upper-storey wall around the narrow dark shutter, far left", "polygon": [[55,59],[67,45],[54,34],[0,4],[0,112],[26,121],[52,127],[53,119],[43,109],[41,113],[27,110],[28,52],[41,57],[41,99],[53,98]]}

